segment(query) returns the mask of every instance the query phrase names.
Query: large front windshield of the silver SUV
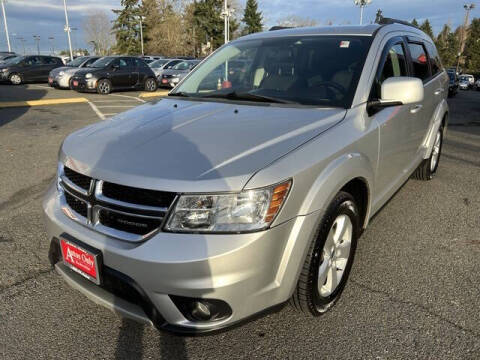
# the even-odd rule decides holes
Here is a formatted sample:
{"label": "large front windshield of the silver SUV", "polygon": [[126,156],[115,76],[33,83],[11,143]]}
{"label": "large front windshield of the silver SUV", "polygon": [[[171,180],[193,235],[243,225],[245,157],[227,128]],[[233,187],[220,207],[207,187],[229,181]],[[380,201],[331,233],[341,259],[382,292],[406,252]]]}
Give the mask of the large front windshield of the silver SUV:
{"label": "large front windshield of the silver SUV", "polygon": [[370,43],[336,35],[232,42],[171,95],[348,108]]}

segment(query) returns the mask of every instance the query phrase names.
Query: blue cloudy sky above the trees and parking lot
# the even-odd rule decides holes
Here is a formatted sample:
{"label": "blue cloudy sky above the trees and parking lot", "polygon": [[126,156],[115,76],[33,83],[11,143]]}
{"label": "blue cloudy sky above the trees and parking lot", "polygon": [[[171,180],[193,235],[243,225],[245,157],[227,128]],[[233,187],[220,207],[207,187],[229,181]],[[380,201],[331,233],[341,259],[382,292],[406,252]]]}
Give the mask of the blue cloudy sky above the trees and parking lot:
{"label": "blue cloudy sky above the trees and parking lot", "polygon": [[[0,0],[1,1],[1,0]],[[236,0],[241,6],[246,0]],[[480,17],[480,1],[470,13],[470,19]],[[263,13],[265,26],[268,28],[289,15],[316,20],[324,25],[332,21],[334,25],[357,24],[360,10],[354,6],[353,0],[258,0]],[[463,23],[465,11],[463,0],[373,0],[365,8],[364,23],[375,19],[377,9],[382,9],[386,17],[419,22],[428,18],[435,33],[443,24],[450,23],[453,28]],[[113,19],[112,9],[119,9],[120,0],[67,0],[70,26],[74,47],[87,47],[82,29],[83,19],[92,11],[105,11]],[[55,50],[67,48],[67,36],[64,32],[65,14],[63,0],[6,0],[7,24],[13,50],[23,53],[22,41],[25,39],[27,53],[36,52],[33,35],[40,35],[42,53],[49,53],[52,46]],[[54,39],[50,39],[53,37]],[[0,21],[0,51],[7,49],[3,20]]]}

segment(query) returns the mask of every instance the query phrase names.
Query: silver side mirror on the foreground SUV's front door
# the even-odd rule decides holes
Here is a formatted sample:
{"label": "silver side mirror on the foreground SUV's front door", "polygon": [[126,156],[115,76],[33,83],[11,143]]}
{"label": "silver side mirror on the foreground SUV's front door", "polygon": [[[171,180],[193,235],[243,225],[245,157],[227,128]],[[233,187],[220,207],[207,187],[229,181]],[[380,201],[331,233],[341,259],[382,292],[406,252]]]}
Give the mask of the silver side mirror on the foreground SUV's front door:
{"label": "silver side mirror on the foreground SUV's front door", "polygon": [[370,101],[370,108],[414,104],[423,101],[422,80],[414,77],[391,77],[382,83],[381,99]]}

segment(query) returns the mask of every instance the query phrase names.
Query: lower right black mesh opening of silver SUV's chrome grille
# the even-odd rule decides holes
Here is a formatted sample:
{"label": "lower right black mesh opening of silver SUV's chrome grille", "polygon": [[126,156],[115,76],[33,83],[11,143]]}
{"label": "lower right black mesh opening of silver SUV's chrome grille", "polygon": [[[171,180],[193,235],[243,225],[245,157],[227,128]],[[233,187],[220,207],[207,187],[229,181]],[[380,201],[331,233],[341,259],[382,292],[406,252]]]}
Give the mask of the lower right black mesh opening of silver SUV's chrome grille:
{"label": "lower right black mesh opening of silver SUV's chrome grille", "polygon": [[147,235],[159,228],[163,218],[142,217],[134,214],[123,214],[108,209],[101,209],[98,220],[103,226],[131,234]]}

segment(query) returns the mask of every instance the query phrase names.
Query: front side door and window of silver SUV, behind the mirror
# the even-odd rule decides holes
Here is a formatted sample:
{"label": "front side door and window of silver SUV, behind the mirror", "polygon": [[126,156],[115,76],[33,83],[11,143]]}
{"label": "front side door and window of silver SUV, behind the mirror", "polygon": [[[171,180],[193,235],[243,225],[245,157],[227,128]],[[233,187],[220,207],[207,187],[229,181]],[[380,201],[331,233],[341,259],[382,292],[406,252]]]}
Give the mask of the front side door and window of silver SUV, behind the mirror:
{"label": "front side door and window of silver SUV, behind the mirror", "polygon": [[[370,92],[370,100],[381,98],[381,85],[390,77],[410,76],[406,56],[406,44],[401,37],[391,39],[384,47],[375,80]],[[380,131],[380,149],[376,178],[376,193],[379,198],[398,186],[398,182],[411,168],[415,148],[411,142],[411,105],[392,106],[369,114],[375,119]]]}

